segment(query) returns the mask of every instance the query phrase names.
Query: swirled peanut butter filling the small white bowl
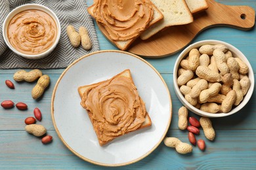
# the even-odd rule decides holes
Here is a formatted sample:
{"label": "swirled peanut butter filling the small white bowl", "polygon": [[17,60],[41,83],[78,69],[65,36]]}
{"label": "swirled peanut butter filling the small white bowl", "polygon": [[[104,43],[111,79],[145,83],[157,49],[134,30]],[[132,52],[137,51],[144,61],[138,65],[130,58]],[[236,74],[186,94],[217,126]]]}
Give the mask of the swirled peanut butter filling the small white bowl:
{"label": "swirled peanut butter filling the small white bowl", "polygon": [[40,54],[56,40],[57,25],[41,10],[24,10],[16,14],[7,29],[11,45],[24,54]]}

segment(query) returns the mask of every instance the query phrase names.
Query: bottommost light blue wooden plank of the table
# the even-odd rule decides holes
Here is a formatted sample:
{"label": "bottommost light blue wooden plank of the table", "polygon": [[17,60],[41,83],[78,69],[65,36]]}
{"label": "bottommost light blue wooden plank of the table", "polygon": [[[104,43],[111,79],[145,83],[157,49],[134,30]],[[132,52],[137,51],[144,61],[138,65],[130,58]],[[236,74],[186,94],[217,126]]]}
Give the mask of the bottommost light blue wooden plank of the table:
{"label": "bottommost light blue wooden plank of the table", "polygon": [[[83,161],[58,139],[54,131],[53,142],[41,143],[26,131],[0,131],[0,169],[113,169]],[[167,136],[178,137],[188,143],[186,131],[171,130]],[[217,130],[217,138],[210,142],[203,133],[206,148],[202,152],[193,146],[191,154],[178,154],[163,143],[143,160],[116,169],[253,169],[256,166],[256,130]]]}

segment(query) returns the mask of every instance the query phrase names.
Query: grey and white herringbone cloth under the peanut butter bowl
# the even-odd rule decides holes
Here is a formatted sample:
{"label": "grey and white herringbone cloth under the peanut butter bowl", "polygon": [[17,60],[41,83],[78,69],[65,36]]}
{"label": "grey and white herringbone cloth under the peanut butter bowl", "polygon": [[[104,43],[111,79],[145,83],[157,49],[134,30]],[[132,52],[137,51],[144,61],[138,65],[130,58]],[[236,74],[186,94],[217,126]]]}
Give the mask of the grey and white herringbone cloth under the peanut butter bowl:
{"label": "grey and white herringbone cloth under the peanut butter bowl", "polygon": [[[7,48],[3,41],[2,31],[0,31],[0,69],[56,69],[66,68],[75,59],[85,56],[91,52],[99,50],[98,39],[96,36],[93,19],[87,12],[87,5],[85,0],[1,0],[0,1],[0,16],[5,18],[7,14],[16,7],[27,3],[37,3],[44,5],[53,10],[58,16],[61,25],[61,36],[58,45],[54,51],[47,57],[42,59],[25,59],[17,54],[14,54]],[[87,28],[89,37],[93,44],[91,50],[85,50],[80,45],[74,48],[66,34],[66,27],[74,25],[78,31],[80,26]],[[3,20],[0,22],[0,29],[2,30]]]}

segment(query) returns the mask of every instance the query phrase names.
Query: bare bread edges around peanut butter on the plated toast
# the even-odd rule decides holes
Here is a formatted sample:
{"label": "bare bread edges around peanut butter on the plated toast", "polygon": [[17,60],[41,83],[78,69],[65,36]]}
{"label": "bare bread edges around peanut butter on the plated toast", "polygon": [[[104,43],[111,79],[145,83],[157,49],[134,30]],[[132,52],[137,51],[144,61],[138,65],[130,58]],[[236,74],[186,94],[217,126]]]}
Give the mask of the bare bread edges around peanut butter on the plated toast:
{"label": "bare bread edges around peanut butter on the plated toast", "polygon": [[[96,86],[100,85],[100,84],[103,83],[103,82],[110,82],[110,81],[112,81],[114,78],[121,77],[121,76],[123,76],[123,77],[125,77],[125,78],[129,78],[129,80],[131,80],[131,83],[134,84],[133,78],[132,78],[132,76],[131,76],[131,71],[130,71],[129,69],[126,69],[125,71],[119,73],[119,74],[116,75],[116,76],[113,76],[112,78],[110,78],[110,79],[108,79],[108,80],[104,80],[104,81],[102,81],[102,82],[97,82],[97,83],[95,83],[95,84],[80,86],[80,87],[77,89],[77,90],[78,90],[78,93],[79,93],[81,99],[83,99],[83,95],[85,95],[85,92],[86,92],[87,90],[89,90],[89,89],[91,89],[91,88],[95,88]],[[139,99],[140,99],[141,107],[145,107],[144,102],[142,101],[142,99],[141,99],[140,97],[139,97]],[[81,102],[82,102],[82,101],[81,101]],[[83,106],[82,103],[81,103],[81,105]],[[146,108],[144,108],[144,109],[146,109]],[[87,109],[86,109],[86,110],[87,110]],[[110,141],[116,139],[116,137],[112,137],[112,139],[110,139],[110,141],[102,141],[102,140],[100,139],[100,133],[102,133],[102,131],[99,131],[99,129],[97,128],[97,125],[94,124],[95,121],[93,120],[93,114],[92,114],[92,112],[91,112],[90,110],[87,110],[87,113],[88,113],[88,115],[89,115],[89,118],[90,118],[90,120],[91,120],[91,123],[93,124],[93,128],[95,129],[95,133],[96,133],[96,135],[97,135],[98,143],[100,144],[100,146],[103,146],[104,144],[107,144],[107,143],[109,143]],[[142,128],[144,128],[144,127],[151,126],[152,121],[151,121],[151,119],[150,119],[150,116],[148,115],[148,112],[146,112],[146,115],[145,115],[144,118],[145,118],[145,120],[144,120],[144,122],[141,124],[141,126],[137,127],[137,129],[133,129],[133,130],[131,130],[131,131],[126,131],[125,134],[127,134],[127,133],[129,133],[129,132],[132,132],[132,131],[137,131],[137,130],[142,129]],[[135,119],[135,121],[136,121],[136,119]],[[124,135],[124,134],[123,134],[123,135]],[[121,135],[120,135],[120,136],[121,136]],[[117,137],[118,137],[118,136],[117,136]]]}

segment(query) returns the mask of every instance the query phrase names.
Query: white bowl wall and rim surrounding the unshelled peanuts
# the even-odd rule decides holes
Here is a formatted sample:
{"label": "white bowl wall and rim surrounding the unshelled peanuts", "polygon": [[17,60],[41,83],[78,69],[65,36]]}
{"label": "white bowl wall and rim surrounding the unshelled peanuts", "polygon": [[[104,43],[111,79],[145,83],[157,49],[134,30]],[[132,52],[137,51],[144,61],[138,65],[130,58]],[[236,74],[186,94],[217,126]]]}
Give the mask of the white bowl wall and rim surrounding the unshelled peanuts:
{"label": "white bowl wall and rim surrounding the unshelled peanuts", "polygon": [[[244,96],[244,99],[242,100],[242,102],[238,106],[236,106],[234,109],[230,110],[230,112],[209,113],[209,112],[204,112],[200,109],[197,109],[196,107],[194,107],[190,103],[188,103],[188,101],[186,101],[186,99],[182,95],[181,91],[179,90],[179,86],[177,84],[177,71],[179,69],[179,63],[181,62],[181,59],[185,58],[186,55],[188,54],[188,52],[192,48],[199,48],[203,44],[224,44],[224,45],[226,45],[228,47],[228,50],[230,50],[232,52],[233,56],[241,58],[242,61],[244,61],[249,68],[249,72],[247,73],[247,75],[251,81],[251,86],[249,87],[249,90],[247,91],[246,95]],[[249,63],[249,60],[245,57],[245,55],[240,50],[238,50],[238,48],[233,46],[232,44],[229,44],[228,42],[224,42],[224,41],[214,40],[214,39],[194,42],[193,44],[190,44],[189,46],[187,46],[184,50],[182,50],[181,54],[179,54],[177,60],[175,61],[175,65],[173,68],[174,89],[175,89],[175,93],[177,94],[177,97],[179,98],[181,103],[186,108],[188,108],[188,110],[190,110],[191,112],[194,112],[195,114],[198,114],[200,116],[206,116],[209,118],[219,118],[219,117],[229,116],[229,115],[234,114],[234,113],[238,112],[239,110],[241,110],[248,103],[249,99],[251,98],[251,95],[253,94],[254,82],[255,82],[255,78],[254,78],[253,69],[251,67],[251,64]]]}

